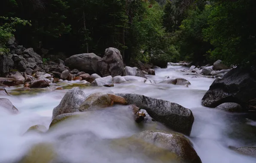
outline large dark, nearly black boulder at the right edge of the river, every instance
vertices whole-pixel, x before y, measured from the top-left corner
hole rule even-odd
[[[250,101],[256,99],[255,85],[256,69],[238,66],[212,83],[202,99],[202,105],[214,108],[222,103],[238,103],[243,109],[250,109]]]

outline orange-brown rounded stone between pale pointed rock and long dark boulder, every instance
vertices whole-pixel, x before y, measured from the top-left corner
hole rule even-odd
[[[119,97],[114,94],[97,92],[86,98],[86,100],[80,105],[79,111],[83,112],[91,109],[105,108],[112,106],[113,104],[126,105],[127,102],[123,97]]]

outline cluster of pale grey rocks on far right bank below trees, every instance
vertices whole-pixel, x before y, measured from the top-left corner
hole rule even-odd
[[[190,66],[189,71],[187,75],[210,75],[213,78],[223,78],[230,71],[230,68],[224,65],[221,60],[217,60],[212,66],[210,64],[197,67]]]

